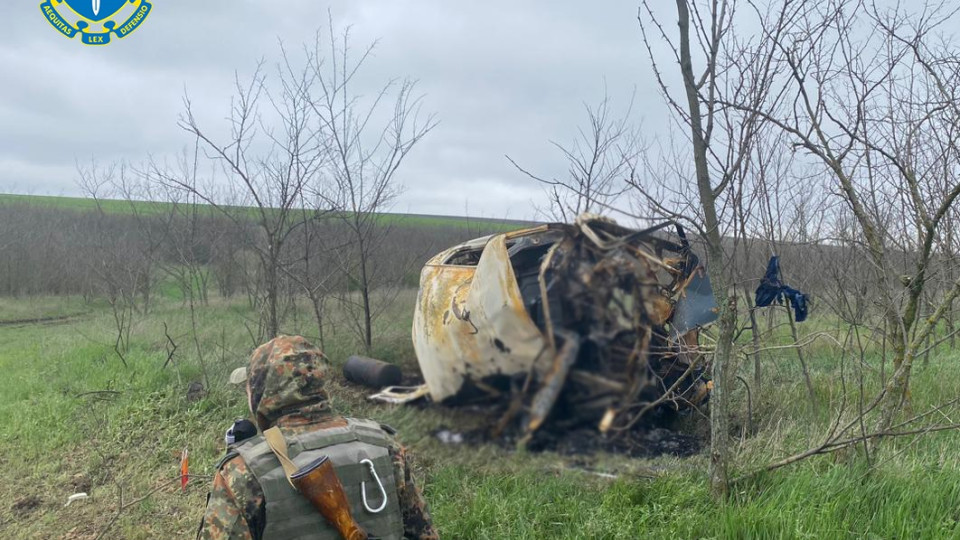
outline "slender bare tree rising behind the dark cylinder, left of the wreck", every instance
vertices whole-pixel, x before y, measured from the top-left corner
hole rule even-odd
[[[347,293],[355,288],[360,298],[344,294],[341,299],[368,350],[373,321],[385,307],[371,300],[379,270],[372,254],[389,232],[378,213],[400,193],[396,174],[407,154],[436,126],[433,115],[422,115],[422,96],[415,93],[413,81],[390,81],[367,101],[355,90],[357,74],[375,45],[354,58],[350,29],[338,34],[331,21],[326,32],[318,32],[308,55],[309,74],[318,88],[308,103],[330,148],[330,159],[323,163],[330,185],[315,194],[348,231],[349,241],[337,252]]]

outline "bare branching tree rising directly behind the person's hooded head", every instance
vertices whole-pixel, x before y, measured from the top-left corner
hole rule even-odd
[[[284,52],[276,80],[275,86],[268,84],[262,63],[248,82],[236,78],[231,135],[224,142],[214,140],[201,127],[191,101],[184,98],[180,126],[220,165],[229,197],[218,192],[213,182],[201,185],[154,169],[158,181],[196,195],[238,229],[255,224],[256,234],[248,238],[247,246],[259,262],[262,303],[258,307],[261,328],[268,336],[280,333],[284,246],[297,224],[304,189],[317,181],[327,156],[325,134],[311,114],[314,79],[306,70],[298,72]],[[266,111],[261,110],[264,102]]]

